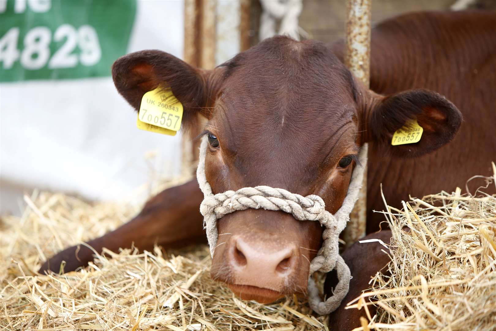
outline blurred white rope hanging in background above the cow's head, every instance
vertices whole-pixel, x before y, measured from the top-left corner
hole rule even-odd
[[[300,40],[298,17],[302,12],[302,0],[260,0],[262,14],[260,16],[260,40],[276,34],[286,34]],[[281,20],[279,32],[276,32],[276,21]]]

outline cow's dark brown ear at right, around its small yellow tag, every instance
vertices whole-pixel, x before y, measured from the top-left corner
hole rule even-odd
[[[430,90],[408,90],[386,97],[371,92],[370,96],[366,140],[381,144],[395,156],[416,157],[436,150],[453,139],[462,122],[460,111]],[[391,145],[394,132],[412,120],[423,128],[420,141]]]

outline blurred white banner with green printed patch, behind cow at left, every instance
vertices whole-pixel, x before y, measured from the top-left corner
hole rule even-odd
[[[180,135],[138,130],[110,65],[144,49],[182,58],[184,3],[117,1],[0,0],[2,213],[18,212],[13,187],[127,199],[149,179],[147,151],[179,173]]]

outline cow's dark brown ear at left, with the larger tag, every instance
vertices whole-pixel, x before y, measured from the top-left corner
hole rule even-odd
[[[159,85],[171,88],[183,104],[183,123],[195,122],[198,112],[209,116],[206,86],[210,71],[201,70],[168,53],[147,50],[124,55],[112,66],[112,77],[119,93],[139,110],[143,95]]]

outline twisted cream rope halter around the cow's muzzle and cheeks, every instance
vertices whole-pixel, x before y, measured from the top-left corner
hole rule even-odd
[[[248,187],[238,191],[226,191],[214,195],[212,188],[205,176],[205,155],[207,150],[207,137],[203,137],[200,145],[200,157],[196,178],[203,192],[204,199],[200,205],[203,215],[204,227],[207,233],[210,254],[214,255],[217,245],[217,220],[224,215],[236,210],[248,208],[281,210],[290,213],[298,220],[318,221],[325,227],[322,237],[322,247],[317,256],[310,263],[308,295],[311,309],[320,315],[325,315],[336,310],[341,301],[348,293],[350,286],[350,269],[343,258],[339,256],[339,234],[344,230],[350,220],[353,205],[358,199],[358,193],[362,186],[364,167],[357,165],[348,187],[348,192],[339,210],[333,215],[325,210],[325,203],[319,196],[310,195],[303,197],[284,189],[275,189],[268,186]],[[367,152],[363,149],[359,153],[359,161],[363,166],[367,164]],[[315,282],[310,277],[315,271],[329,272],[336,268],[338,274],[338,285],[334,289],[334,295],[326,301],[320,299]]]

